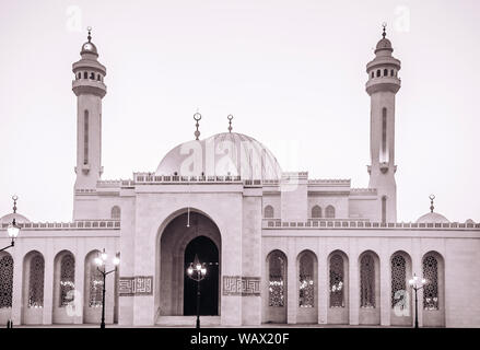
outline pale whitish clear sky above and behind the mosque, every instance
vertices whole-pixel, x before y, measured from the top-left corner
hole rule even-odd
[[[154,172],[194,139],[234,131],[283,171],[367,187],[365,65],[387,25],[401,60],[398,221],[435,211],[480,221],[480,2],[0,2],[0,217],[70,221],[77,148],[72,62],[86,26],[106,66],[103,179]]]

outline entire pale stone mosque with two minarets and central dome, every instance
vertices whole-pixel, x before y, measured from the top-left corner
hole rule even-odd
[[[13,219],[0,252],[0,325],[195,325],[199,261],[203,326],[261,324],[480,327],[480,223],[431,210],[397,221],[395,98],[400,60],[383,37],[366,65],[367,188],[282,172],[254,138],[233,131],[173,148],[156,171],[102,178],[106,68],[89,31],[72,66],[77,180],[71,222]],[[108,117],[108,116],[107,116]],[[15,198],[16,199],[16,198]],[[105,250],[104,250],[105,249]],[[106,277],[97,269],[105,252]],[[119,257],[115,269],[112,257]],[[117,261],[118,262],[118,261]],[[190,271],[191,272],[191,271]],[[417,283],[415,282],[415,283]],[[420,283],[420,282],[419,282]],[[419,285],[420,287],[420,285]]]

